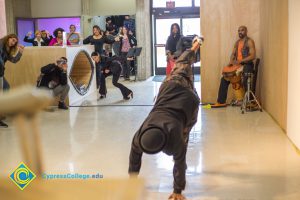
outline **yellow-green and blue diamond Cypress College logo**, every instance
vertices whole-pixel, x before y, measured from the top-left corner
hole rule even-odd
[[[36,178],[36,175],[23,163],[9,175],[9,178],[20,188],[24,190]]]

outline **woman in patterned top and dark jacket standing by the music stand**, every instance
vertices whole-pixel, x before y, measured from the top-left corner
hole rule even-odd
[[[130,80],[130,65],[131,60],[127,58],[127,54],[130,48],[133,48],[137,45],[137,41],[133,34],[129,34],[125,26],[123,26],[121,35],[120,35],[120,56],[123,60],[123,76],[125,80]]]

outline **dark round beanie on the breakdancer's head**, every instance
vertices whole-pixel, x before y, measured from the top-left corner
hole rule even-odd
[[[140,137],[140,146],[145,153],[156,154],[166,144],[166,134],[159,128],[149,128]]]

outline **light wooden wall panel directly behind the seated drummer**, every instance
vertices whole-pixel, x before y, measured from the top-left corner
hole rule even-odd
[[[201,50],[202,102],[216,102],[221,70],[229,62],[240,25],[248,27],[260,56],[259,4],[260,0],[201,1],[201,32],[205,38]]]

